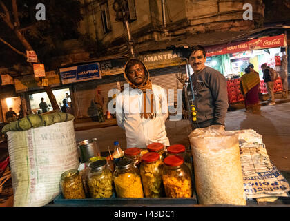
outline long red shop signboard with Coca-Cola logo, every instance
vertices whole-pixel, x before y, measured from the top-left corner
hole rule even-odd
[[[263,48],[277,48],[286,46],[284,35],[276,35],[271,37],[260,37],[250,41],[235,42],[231,44],[222,44],[218,46],[206,47],[206,56],[224,55],[246,50],[259,50]]]

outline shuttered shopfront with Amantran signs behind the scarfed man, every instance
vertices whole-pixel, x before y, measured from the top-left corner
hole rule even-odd
[[[171,98],[169,105],[174,105],[177,99],[177,89],[182,89],[182,84],[177,80],[176,74],[186,79],[186,68],[182,62],[182,55],[173,51],[159,52],[138,57],[148,68],[153,84],[166,89],[174,90],[174,101]],[[61,83],[70,84],[75,102],[75,117],[88,118],[94,113],[94,98],[97,87],[101,89],[104,97],[104,113],[108,110],[112,89],[120,90],[126,83],[124,79],[124,65],[128,59],[110,59],[95,61],[90,64],[59,68]],[[87,75],[80,79],[79,68],[82,67]],[[93,67],[93,68],[92,68]]]

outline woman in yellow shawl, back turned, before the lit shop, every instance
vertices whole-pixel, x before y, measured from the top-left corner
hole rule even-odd
[[[260,87],[260,78],[258,73],[251,71],[250,68],[244,69],[245,74],[242,75],[240,86],[242,94],[244,95],[244,106],[246,112],[260,111],[260,102],[259,102],[259,87]]]

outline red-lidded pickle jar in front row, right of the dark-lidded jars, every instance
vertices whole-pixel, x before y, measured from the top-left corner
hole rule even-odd
[[[162,168],[163,163],[158,153],[150,152],[142,156],[140,174],[146,198],[160,198],[164,196]]]

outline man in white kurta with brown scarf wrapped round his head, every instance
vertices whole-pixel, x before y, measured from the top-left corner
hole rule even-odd
[[[116,118],[117,124],[126,131],[127,148],[146,148],[154,142],[169,146],[165,129],[166,91],[151,84],[148,70],[138,59],[126,63],[124,77],[128,84],[117,95]]]

